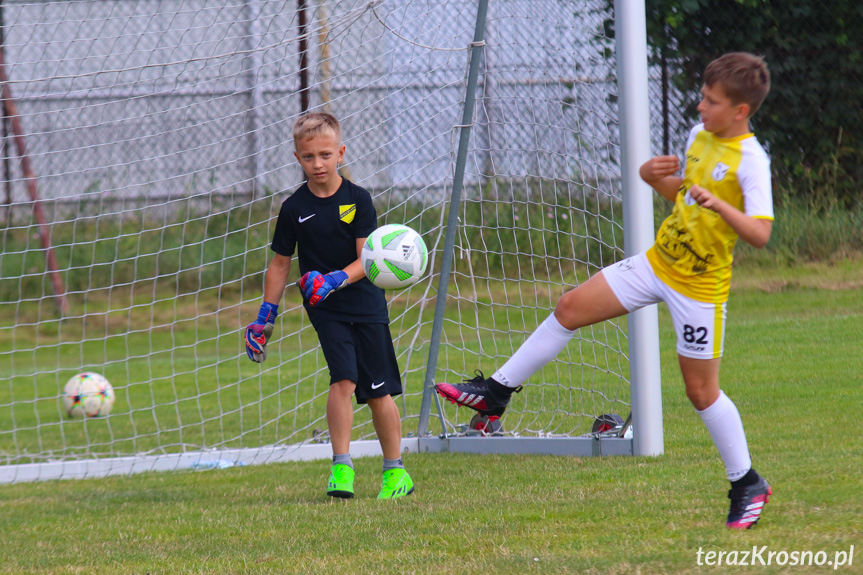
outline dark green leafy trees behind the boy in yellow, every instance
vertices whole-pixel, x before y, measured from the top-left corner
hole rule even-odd
[[[863,3],[646,0],[645,7],[652,63],[669,63],[687,96],[684,114],[697,118],[712,59],[763,55],[772,89],[752,123],[777,187],[863,204]]]

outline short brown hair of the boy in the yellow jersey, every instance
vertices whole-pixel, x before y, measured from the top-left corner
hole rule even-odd
[[[761,56],[729,52],[712,61],[704,70],[707,86],[721,84],[734,104],[748,104],[749,115],[761,107],[770,91],[770,72]]]

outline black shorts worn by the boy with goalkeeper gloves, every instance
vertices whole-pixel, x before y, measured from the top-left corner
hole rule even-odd
[[[401,395],[401,372],[389,325],[321,321],[315,330],[330,368],[331,385],[345,379],[356,383],[357,403]]]

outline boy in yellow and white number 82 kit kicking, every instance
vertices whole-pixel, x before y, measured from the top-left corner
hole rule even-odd
[[[743,424],[719,389],[726,300],[737,239],[761,248],[770,239],[770,162],[750,132],[749,118],[770,90],[764,60],[736,52],[711,62],[698,105],[702,123],[686,145],[683,176],[676,156],[641,166],[642,179],[674,202],[673,213],[647,252],[603,269],[564,294],[550,315],[492,377],[439,383],[439,394],[486,415],[500,416],[513,392],[552,361],[575,330],[664,301],[677,332],[686,394],[725,464],[731,490],[726,525],[748,529],[772,490],[752,468]]]

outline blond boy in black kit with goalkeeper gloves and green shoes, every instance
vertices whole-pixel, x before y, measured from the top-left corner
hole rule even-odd
[[[293,136],[294,155],[308,180],[282,203],[264,303],[257,321],[246,328],[246,351],[255,362],[266,359],[296,248],[303,305],[330,370],[327,425],[333,465],[327,495],[354,496],[350,439],[356,394],[357,403],[371,409],[383,451],[378,499],[403,497],[414,487],[401,459],[401,418],[393,401],[402,393],[401,376],[384,292],[365,277],[359,261],[366,237],[377,227],[377,214],[371,195],[338,173],[345,146],[335,117],[304,115],[294,124]]]

